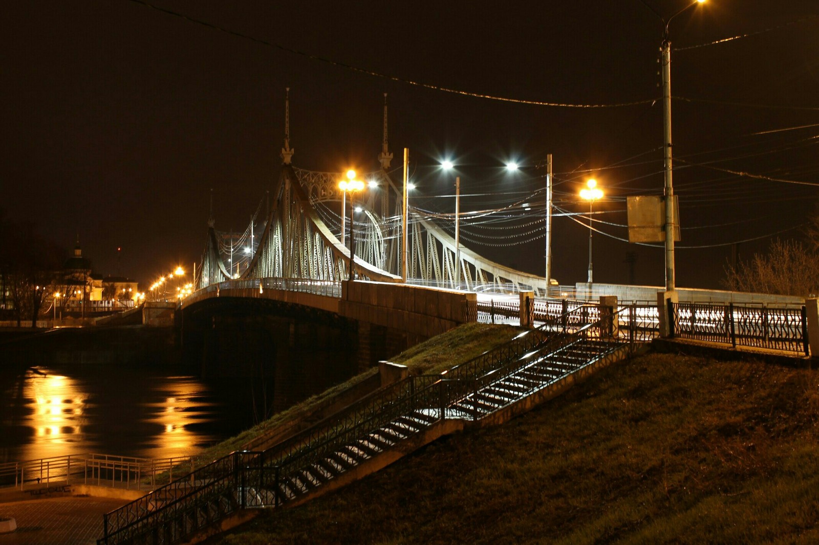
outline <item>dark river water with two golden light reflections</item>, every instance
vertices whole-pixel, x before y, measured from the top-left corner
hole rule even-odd
[[[272,386],[206,383],[179,367],[0,372],[0,462],[66,454],[188,456],[252,426]]]

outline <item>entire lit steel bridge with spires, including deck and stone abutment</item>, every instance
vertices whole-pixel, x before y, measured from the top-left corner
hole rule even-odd
[[[369,191],[355,202],[360,220],[345,218],[342,174],[292,164],[288,132],[265,214],[259,205],[241,234],[220,232],[211,214],[195,291],[180,305],[188,329],[197,327],[194,309],[211,299],[278,301],[292,312],[307,307],[355,322],[365,367],[476,321],[479,292],[514,294],[516,305],[518,292],[547,295],[545,277],[482,257],[456,242],[434,214],[407,205],[406,173],[399,184],[390,170],[386,109],[382,168],[363,176]],[[206,327],[208,316],[199,314],[199,327]],[[388,341],[381,348],[391,352],[368,345],[382,337]]]

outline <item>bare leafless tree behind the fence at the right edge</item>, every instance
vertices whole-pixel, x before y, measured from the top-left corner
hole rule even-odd
[[[728,289],[735,291],[816,295],[819,293],[819,250],[799,241],[777,239],[771,242],[767,254],[753,254],[748,262],[726,266],[725,283]]]

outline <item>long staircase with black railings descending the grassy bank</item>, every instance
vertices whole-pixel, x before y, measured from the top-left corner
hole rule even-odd
[[[464,426],[525,412],[578,372],[630,353],[634,331],[618,329],[612,309],[594,310],[575,309],[441,375],[410,376],[264,452],[211,462],[108,513],[97,544],[183,543],[250,508],[337,489]]]

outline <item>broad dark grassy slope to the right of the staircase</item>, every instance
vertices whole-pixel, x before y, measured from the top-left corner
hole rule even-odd
[[[649,354],[208,543],[817,543],[817,383]]]

